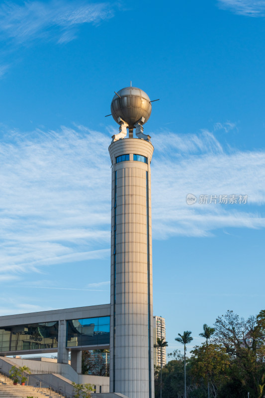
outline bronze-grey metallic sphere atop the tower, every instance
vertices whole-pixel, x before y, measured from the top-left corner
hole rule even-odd
[[[112,117],[117,123],[119,123],[118,117],[121,117],[129,128],[133,128],[141,117],[145,118],[144,123],[147,122],[151,115],[152,104],[143,90],[137,87],[125,87],[115,94],[110,109]]]

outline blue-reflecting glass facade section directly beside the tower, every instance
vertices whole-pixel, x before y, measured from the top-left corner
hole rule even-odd
[[[109,316],[67,321],[67,347],[109,344]]]

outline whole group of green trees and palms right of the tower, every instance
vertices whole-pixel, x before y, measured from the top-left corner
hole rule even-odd
[[[185,345],[191,332],[178,333],[176,341]],[[190,358],[175,350],[162,369],[162,395],[184,398],[184,361],[186,361],[187,398],[265,398],[265,310],[247,319],[228,310],[212,326],[203,325],[201,345]],[[188,355],[189,356],[189,355]],[[159,397],[160,370],[155,370],[155,394]]]

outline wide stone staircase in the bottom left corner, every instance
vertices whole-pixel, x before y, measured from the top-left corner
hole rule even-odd
[[[63,395],[46,388],[36,388],[32,386],[13,385],[12,380],[0,374],[0,398],[65,398]]]

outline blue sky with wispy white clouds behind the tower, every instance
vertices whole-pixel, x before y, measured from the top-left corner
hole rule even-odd
[[[0,3],[0,315],[109,302],[104,115],[130,80],[161,99],[145,133],[168,351],[264,309],[264,33],[264,0]]]

